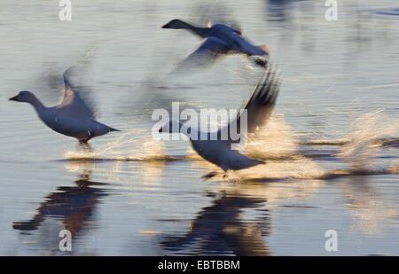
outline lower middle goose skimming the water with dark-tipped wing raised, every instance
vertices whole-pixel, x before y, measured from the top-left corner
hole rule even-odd
[[[276,104],[278,91],[279,76],[269,68],[262,75],[261,81],[258,82],[251,98],[249,98],[244,107],[247,118],[247,133],[254,133],[256,129],[262,127],[268,121]],[[236,132],[240,133],[239,137],[245,139],[240,129],[241,118],[242,114],[238,114],[237,118],[232,120],[226,127],[219,129],[217,131],[217,138],[212,138],[212,136],[215,136],[213,132],[200,132],[200,130],[193,129],[179,121],[168,121],[159,129],[159,132],[183,133],[189,137],[192,148],[203,159],[214,163],[216,166],[222,168],[224,172],[227,170],[239,170],[264,163],[262,160],[251,159],[239,153],[238,150],[233,150],[231,145],[238,143],[239,140],[233,140],[231,134],[228,134],[227,138],[222,138],[223,132],[231,133],[232,129],[237,129]],[[215,176],[215,173],[210,173],[210,176]]]

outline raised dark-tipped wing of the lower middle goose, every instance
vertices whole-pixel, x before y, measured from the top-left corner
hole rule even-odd
[[[230,133],[230,130],[237,129],[237,132],[242,133],[241,122],[246,122],[247,133],[254,133],[256,129],[262,127],[269,120],[276,105],[279,86],[279,74],[277,74],[275,69],[268,68],[243,108],[246,110],[246,121],[241,121],[243,118],[239,114],[227,126],[228,132]]]

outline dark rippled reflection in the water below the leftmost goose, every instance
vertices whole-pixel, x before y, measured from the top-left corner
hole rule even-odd
[[[96,187],[104,184],[91,182],[90,175],[90,170],[83,170],[79,179],[74,181],[75,186],[60,186],[57,192],[51,192],[31,220],[14,222],[13,229],[34,231],[46,218],[55,218],[62,221],[72,236],[82,231],[93,218],[98,202],[106,196],[105,191]]]

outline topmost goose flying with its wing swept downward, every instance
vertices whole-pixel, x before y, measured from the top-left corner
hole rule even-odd
[[[240,30],[228,27],[223,24],[215,24],[211,27],[196,27],[183,20],[171,20],[162,28],[187,29],[192,34],[200,36],[204,39],[200,47],[192,52],[184,63],[192,63],[197,61],[202,64],[214,63],[220,54],[243,53],[246,56],[257,56],[254,63],[261,67],[266,67],[267,60],[270,56],[270,49],[267,45],[254,45],[242,35]],[[259,58],[262,57],[262,58]]]

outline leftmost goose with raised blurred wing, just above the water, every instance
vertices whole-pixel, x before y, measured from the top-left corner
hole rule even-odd
[[[111,131],[120,131],[96,121],[93,111],[68,81],[68,74],[73,68],[68,68],[63,74],[65,94],[58,106],[43,106],[42,102],[27,90],[20,91],[17,96],[9,100],[27,102],[34,106],[39,118],[50,129],[66,136],[75,137],[82,144],[86,144],[92,137],[102,136]]]

